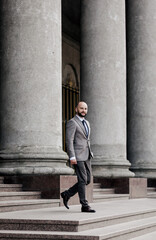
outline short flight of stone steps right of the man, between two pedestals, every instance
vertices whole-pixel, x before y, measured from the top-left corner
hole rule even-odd
[[[93,184],[93,202],[129,199],[129,194],[116,194],[114,188],[101,188],[100,183]]]

